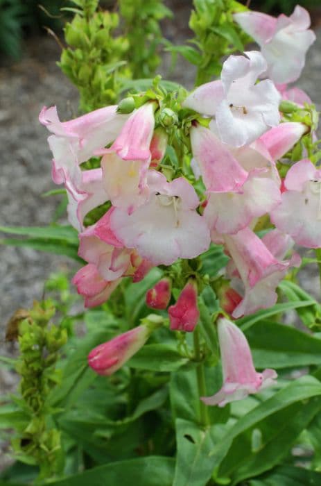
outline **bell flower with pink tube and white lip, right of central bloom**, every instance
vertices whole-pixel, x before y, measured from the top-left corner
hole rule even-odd
[[[191,144],[207,187],[204,217],[211,230],[237,233],[280,203],[277,170],[269,155],[270,160],[248,146],[231,150],[202,126],[191,128]]]

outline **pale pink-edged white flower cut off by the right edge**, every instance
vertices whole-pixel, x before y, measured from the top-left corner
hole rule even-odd
[[[281,203],[271,212],[271,221],[295,243],[321,247],[321,170],[310,160],[297,162],[288,170]]]

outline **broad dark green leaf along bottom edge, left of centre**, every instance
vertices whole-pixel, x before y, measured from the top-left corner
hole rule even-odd
[[[94,467],[51,484],[55,486],[172,486],[174,466],[175,461],[172,458],[150,455]]]

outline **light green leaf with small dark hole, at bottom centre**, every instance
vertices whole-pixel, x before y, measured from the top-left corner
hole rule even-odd
[[[173,486],[205,486],[214,461],[211,449],[218,440],[217,426],[201,428],[194,422],[177,419],[177,462]]]

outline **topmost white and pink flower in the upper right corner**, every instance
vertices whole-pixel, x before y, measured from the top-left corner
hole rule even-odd
[[[309,29],[309,12],[297,5],[290,17],[239,12],[234,19],[261,47],[272,81],[290,83],[299,78],[306,51],[315,41],[315,33]]]

